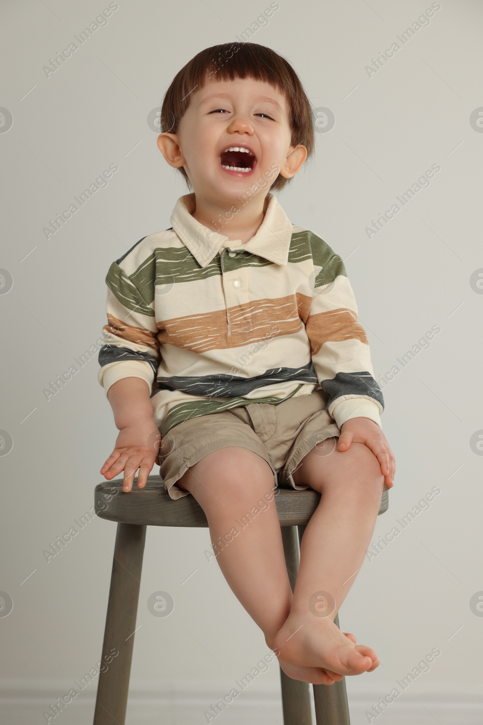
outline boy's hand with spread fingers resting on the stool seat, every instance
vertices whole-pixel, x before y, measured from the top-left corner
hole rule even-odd
[[[110,481],[124,471],[122,490],[128,492],[139,468],[138,489],[142,489],[156,461],[160,439],[153,418],[121,428],[116,446],[101,468],[104,478]]]

